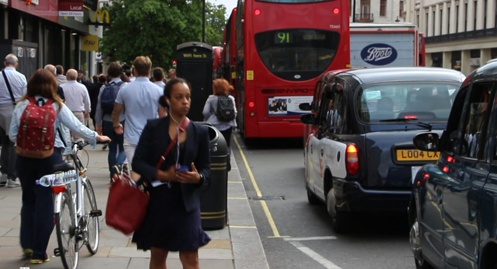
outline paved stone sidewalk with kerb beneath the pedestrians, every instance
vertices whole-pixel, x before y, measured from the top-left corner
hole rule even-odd
[[[88,176],[91,179],[100,217],[100,243],[98,252],[90,256],[85,247],[80,250],[80,269],[146,269],[149,267],[150,251],[139,251],[131,236],[105,225],[105,207],[107,204],[109,178],[107,168],[107,150],[97,146],[88,149]],[[83,153],[83,160],[86,159]],[[268,268],[264,250],[255,227],[252,211],[247,200],[240,173],[232,157],[232,170],[228,176],[228,222],[220,230],[207,231],[212,241],[199,250],[202,269],[265,269]],[[0,188],[0,269],[63,268],[59,257],[53,257],[57,247],[55,229],[52,233],[47,253],[50,262],[30,265],[28,260],[21,260],[19,245],[19,226],[21,209],[21,188]],[[169,253],[169,269],[182,268],[177,252]]]

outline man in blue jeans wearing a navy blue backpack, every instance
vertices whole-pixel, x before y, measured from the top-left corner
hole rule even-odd
[[[107,162],[109,164],[110,178],[112,180],[112,166],[117,165],[121,167],[126,159],[124,152],[124,135],[118,135],[112,124],[112,111],[116,101],[117,93],[126,85],[126,82],[121,80],[121,73],[123,69],[117,62],[113,62],[107,69],[109,83],[104,84],[98,93],[95,122],[96,132],[98,134],[105,134],[111,139],[108,148],[109,155]],[[120,123],[124,126],[124,113],[121,113],[119,118]]]

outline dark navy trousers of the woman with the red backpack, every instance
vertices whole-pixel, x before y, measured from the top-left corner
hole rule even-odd
[[[52,189],[36,185],[36,180],[52,173],[54,164],[62,162],[60,149],[46,159],[17,155],[16,170],[22,188],[20,241],[23,249],[32,249],[32,259],[45,260],[50,234],[54,228]]]

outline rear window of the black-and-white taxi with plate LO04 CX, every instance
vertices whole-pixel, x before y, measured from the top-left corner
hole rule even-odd
[[[356,111],[364,123],[398,118],[446,122],[460,84],[409,82],[364,85],[357,94]]]

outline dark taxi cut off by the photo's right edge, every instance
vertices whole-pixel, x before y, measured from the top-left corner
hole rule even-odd
[[[440,152],[414,178],[416,268],[497,268],[497,62],[463,82],[441,136],[427,132],[413,142]]]

